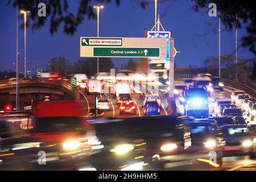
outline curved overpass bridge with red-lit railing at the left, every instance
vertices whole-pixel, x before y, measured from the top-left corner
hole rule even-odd
[[[19,101],[42,101],[45,96],[50,100],[79,100],[80,94],[77,88],[70,82],[52,78],[19,78]],[[0,81],[0,101],[15,102],[16,78]]]

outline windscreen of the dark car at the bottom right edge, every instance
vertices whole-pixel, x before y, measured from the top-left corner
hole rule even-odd
[[[248,127],[229,127],[222,129],[222,133],[225,137],[249,137],[251,135]]]

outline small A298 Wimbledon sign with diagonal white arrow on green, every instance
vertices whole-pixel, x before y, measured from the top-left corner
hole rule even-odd
[[[122,38],[81,38],[81,46],[123,46]]]

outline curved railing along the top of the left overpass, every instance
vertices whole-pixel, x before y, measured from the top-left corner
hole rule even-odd
[[[19,78],[19,85],[25,84],[49,84],[64,87],[69,90],[74,96],[74,98],[79,98],[79,91],[76,87],[71,86],[71,83],[64,80],[57,80],[55,78],[44,78],[44,77],[34,77],[34,78]],[[16,86],[16,78],[11,78],[9,80],[0,81],[0,89],[10,88]]]

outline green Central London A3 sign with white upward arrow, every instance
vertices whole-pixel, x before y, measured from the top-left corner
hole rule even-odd
[[[160,57],[160,48],[94,47],[94,57]]]

